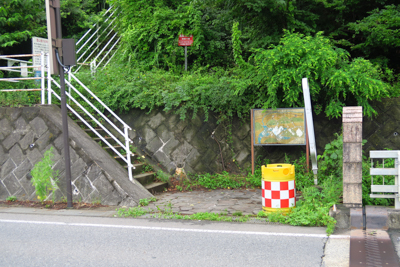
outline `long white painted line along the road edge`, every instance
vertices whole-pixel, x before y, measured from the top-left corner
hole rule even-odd
[[[112,224],[89,224],[89,223],[66,223],[66,222],[44,222],[44,221],[23,221],[23,220],[1,220],[0,223],[24,223],[24,224],[45,224],[61,226],[82,226],[82,227],[104,227],[104,228],[124,228],[137,230],[158,230],[158,231],[176,231],[176,232],[196,232],[196,233],[219,233],[219,234],[241,234],[241,235],[264,235],[264,236],[287,236],[287,237],[316,237],[327,238],[323,234],[298,234],[298,233],[270,233],[270,232],[249,232],[249,231],[226,231],[226,230],[204,230],[204,229],[185,229],[169,227],[149,227],[134,225],[112,225]],[[349,239],[349,235],[330,235],[332,239]]]

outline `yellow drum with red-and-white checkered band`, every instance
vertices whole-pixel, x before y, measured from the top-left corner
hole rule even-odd
[[[268,164],[261,166],[262,203],[265,212],[288,212],[296,206],[294,165]]]

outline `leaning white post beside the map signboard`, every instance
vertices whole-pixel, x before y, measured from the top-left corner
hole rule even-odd
[[[314,184],[318,183],[317,180],[317,146],[315,144],[315,135],[314,135],[314,121],[312,118],[311,111],[311,97],[310,97],[310,88],[308,87],[307,78],[302,79],[302,87],[303,87],[303,97],[304,97],[304,106],[306,109],[306,122],[307,122],[307,131],[308,131],[308,140],[310,144],[310,155],[311,155],[311,163],[312,169],[314,173]]]

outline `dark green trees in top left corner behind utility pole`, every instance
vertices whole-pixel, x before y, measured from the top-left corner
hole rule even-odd
[[[76,38],[99,18],[104,0],[61,0],[64,38]],[[29,54],[30,39],[47,37],[45,0],[2,0],[0,2],[0,54]]]

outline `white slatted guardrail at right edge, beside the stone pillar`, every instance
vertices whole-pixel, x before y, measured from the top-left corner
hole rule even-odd
[[[400,184],[399,184],[399,159],[400,150],[375,150],[370,151],[369,156],[371,158],[371,198],[394,198],[395,199],[395,209],[400,209]],[[374,168],[373,159],[383,159],[382,168]],[[394,159],[394,168],[385,168],[385,159]],[[373,176],[381,175],[393,175],[395,176],[394,185],[385,185],[385,177],[383,177],[383,183],[381,185],[374,184]],[[374,194],[379,193],[379,194]],[[385,194],[386,193],[386,194]],[[390,194],[389,194],[390,193]]]

